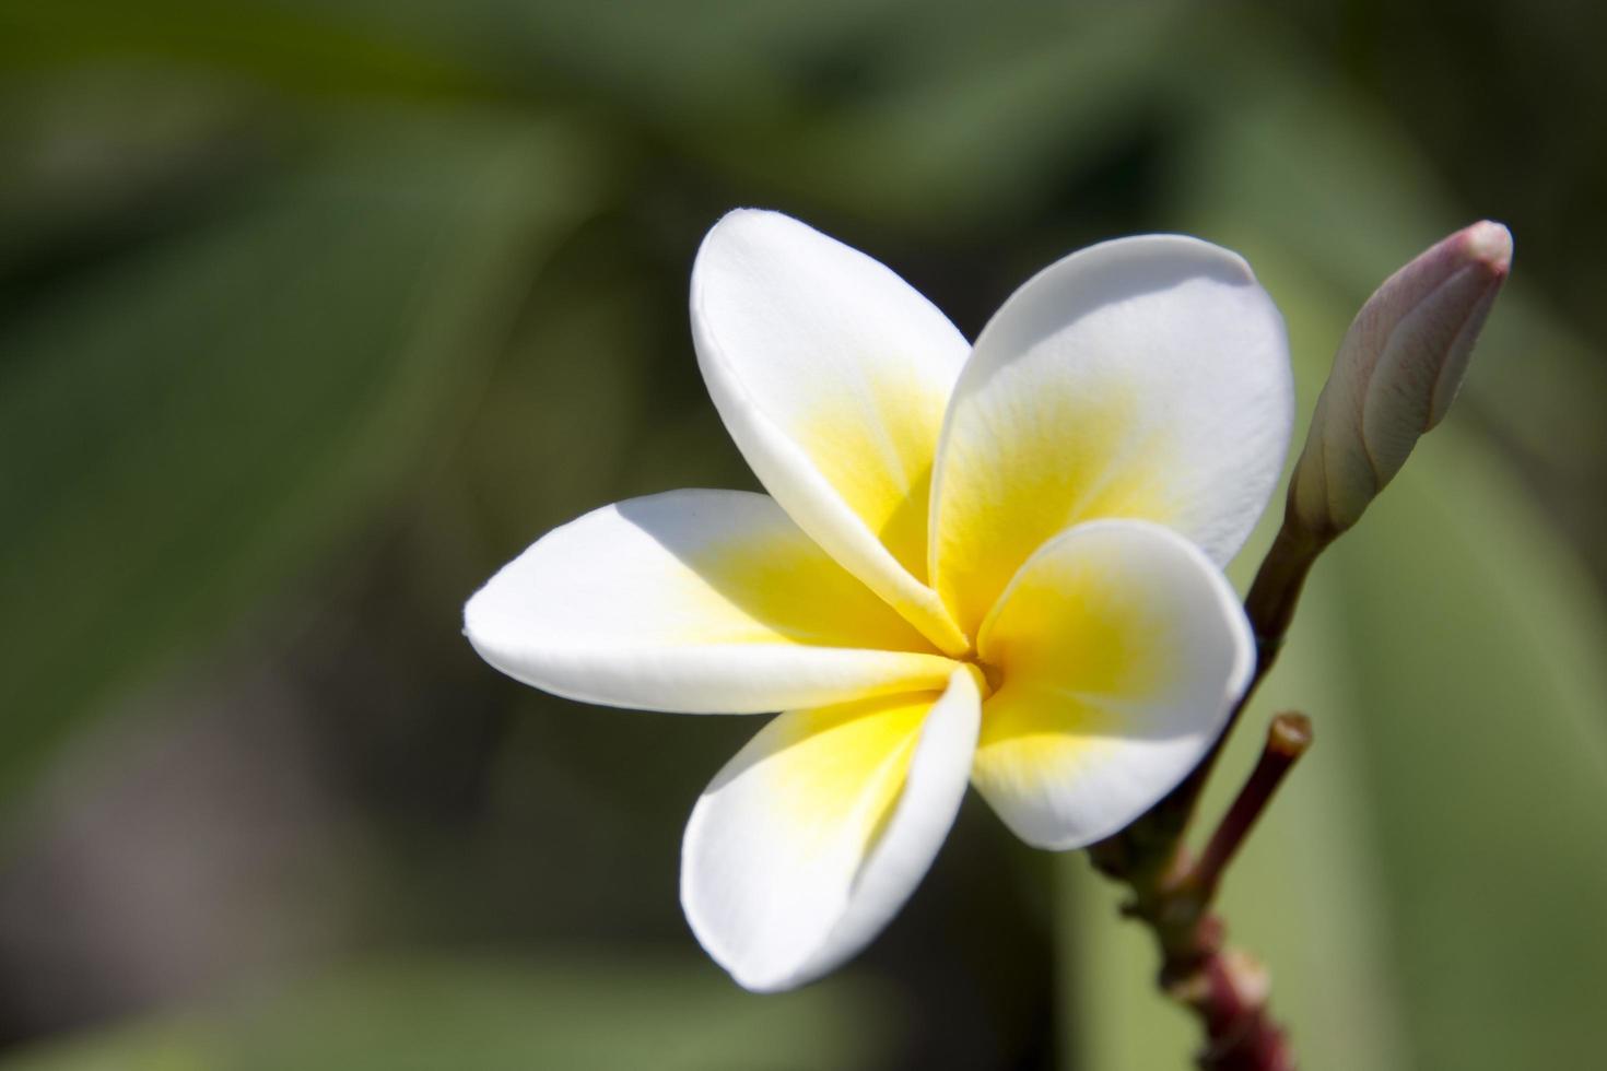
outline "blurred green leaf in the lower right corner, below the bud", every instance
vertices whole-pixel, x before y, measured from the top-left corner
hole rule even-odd
[[[1451,446],[1380,501],[1393,560],[1337,565],[1401,1008],[1417,1066],[1564,1066],[1607,1049],[1607,628],[1519,482]]]

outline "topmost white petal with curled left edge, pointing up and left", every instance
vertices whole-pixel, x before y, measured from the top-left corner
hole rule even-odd
[[[799,525],[950,654],[926,586],[932,458],[971,347],[908,283],[778,212],[720,220],[693,268],[720,417]]]

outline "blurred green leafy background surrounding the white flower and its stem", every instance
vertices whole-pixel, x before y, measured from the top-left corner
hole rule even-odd
[[[0,1068],[1186,1066],[1114,890],[975,801],[850,968],[738,991],[677,856],[759,723],[463,642],[551,525],[752,485],[685,312],[742,204],[967,336],[1078,246],[1197,233],[1278,299],[1303,409],[1390,270],[1509,223],[1453,419],[1218,785],[1313,715],[1226,912],[1308,1068],[1607,1061],[1591,14],[0,0]]]

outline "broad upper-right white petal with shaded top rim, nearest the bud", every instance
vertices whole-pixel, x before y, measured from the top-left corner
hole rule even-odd
[[[1165,523],[1226,564],[1292,408],[1282,318],[1244,260],[1167,234],[1072,254],[1004,302],[955,387],[934,584],[975,634],[1028,554],[1098,517]]]

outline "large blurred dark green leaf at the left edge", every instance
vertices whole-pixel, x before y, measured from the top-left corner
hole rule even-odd
[[[442,453],[588,202],[556,128],[336,133],[0,329],[0,793]]]

